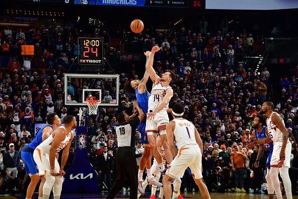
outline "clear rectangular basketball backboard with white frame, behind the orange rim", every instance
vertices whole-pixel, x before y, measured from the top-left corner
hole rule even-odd
[[[119,105],[119,75],[111,74],[64,74],[64,104],[87,107],[86,99],[95,96],[99,106]]]

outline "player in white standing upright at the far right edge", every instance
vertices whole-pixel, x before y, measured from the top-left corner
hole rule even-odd
[[[279,186],[278,171],[282,178],[286,198],[292,198],[291,181],[288,175],[290,167],[291,143],[288,140],[288,133],[281,116],[273,112],[274,105],[271,102],[264,102],[261,112],[267,117],[267,127],[270,138],[273,141],[273,152],[270,161],[270,178],[275,190],[277,199],[282,198]]]

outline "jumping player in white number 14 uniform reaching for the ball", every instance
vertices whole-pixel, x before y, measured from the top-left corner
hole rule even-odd
[[[160,48],[158,46],[154,46],[150,56],[154,56],[155,52],[158,52],[159,50]],[[173,156],[169,149],[166,125],[169,123],[167,110],[169,108],[169,102],[173,96],[173,89],[169,84],[175,79],[175,74],[172,71],[168,71],[165,72],[162,77],[159,77],[152,65],[148,65],[147,70],[154,85],[148,100],[146,133],[153,156],[156,158],[159,170],[162,172],[165,167],[162,162],[162,156],[156,148],[155,139],[159,132],[162,145],[165,149],[167,162],[171,163]]]

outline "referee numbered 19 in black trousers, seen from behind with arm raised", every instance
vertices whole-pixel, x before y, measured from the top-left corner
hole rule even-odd
[[[139,108],[136,101],[133,102],[134,108],[139,116],[131,121],[125,112],[117,115],[119,125],[116,127],[118,138],[118,151],[116,153],[117,178],[106,196],[106,199],[114,198],[125,183],[125,177],[130,180],[129,198],[137,198],[137,164],[135,159],[135,129],[139,122],[144,118],[144,113]]]

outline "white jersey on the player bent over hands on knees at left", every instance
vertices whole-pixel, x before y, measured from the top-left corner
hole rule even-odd
[[[65,132],[65,138],[63,141],[60,142],[58,148],[56,149],[56,153],[58,153],[59,151],[61,151],[68,143],[69,143],[69,140],[71,138],[71,132],[69,132],[68,135],[66,135],[66,130],[65,130],[65,127],[64,126],[60,126],[58,127],[57,129],[59,128],[63,128],[64,129],[64,132]],[[54,133],[54,132],[53,132]],[[51,148],[51,145],[52,145],[52,142],[53,142],[53,133],[45,140],[43,141],[40,145],[38,145],[38,149],[46,152],[46,153],[50,153],[50,148]]]

